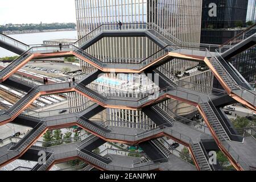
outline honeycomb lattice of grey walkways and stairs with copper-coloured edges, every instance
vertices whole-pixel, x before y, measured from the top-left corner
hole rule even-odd
[[[248,49],[251,43],[255,44],[254,39],[249,37],[251,34],[245,32],[249,39],[224,47],[226,51],[215,56],[212,51],[199,49],[201,46],[213,46],[210,44],[192,46],[182,42],[185,45],[182,48],[174,45],[171,40],[175,39],[167,37],[167,32],[157,26],[137,26],[133,29],[125,29],[125,26],[120,28],[116,24],[111,26],[113,28],[110,30],[98,29],[94,36],[86,35],[75,44],[63,47],[31,47],[0,34],[0,47],[20,55],[1,70],[0,82],[24,92],[24,96],[14,105],[5,105],[6,108],[1,109],[0,125],[11,123],[31,128],[23,138],[11,136],[1,140],[0,167],[16,159],[23,159],[35,161],[35,164],[33,167],[19,164],[20,166],[12,169],[44,171],[51,169],[56,163],[80,159],[86,165],[82,167],[84,171],[92,169],[89,165],[112,171],[219,171],[230,168],[237,171],[255,170],[255,130],[240,129],[241,133],[238,133],[222,109],[239,102],[250,109],[250,117],[256,113],[255,90],[247,82],[240,80],[242,76],[233,74],[236,69],[229,67],[225,61]],[[250,30],[254,31],[254,27],[250,27]],[[138,64],[136,57],[128,57],[130,63],[122,57],[117,57],[117,62],[113,62],[115,57],[110,57],[111,59],[108,58],[102,63],[93,56],[96,53],[92,52],[93,55],[90,55],[84,51],[102,37],[113,35],[117,40],[123,39],[123,36],[135,36],[138,42],[141,36],[144,39],[147,37],[158,43],[163,52],[155,53],[150,59]],[[40,78],[36,85],[34,77],[15,77],[29,61],[42,57],[66,56],[79,57],[94,67],[93,72],[74,76],[76,81],[67,79],[70,75],[65,78],[51,78],[48,83]],[[174,61],[174,58],[181,62]],[[193,64],[189,65],[192,61],[195,62],[193,67]],[[162,66],[168,62],[176,63],[177,70],[173,71],[168,65],[165,68]],[[189,68],[183,71],[181,63]],[[175,72],[175,76],[168,69]],[[111,73],[112,70],[119,74]],[[223,86],[222,90],[205,86],[204,82],[212,84],[208,80],[212,76],[209,71],[214,73]],[[104,76],[99,78],[101,74]],[[152,74],[157,77],[151,77]],[[82,107],[80,110],[74,107],[64,108],[61,105],[58,106],[59,109],[46,112],[28,109],[39,97],[75,92],[86,97],[79,101],[77,99],[80,96],[71,95],[73,104],[81,102],[78,103]],[[183,114],[175,114],[187,110],[171,107],[174,106],[174,100],[189,104],[192,109],[196,108],[199,111],[196,117],[201,116],[204,121],[192,121],[182,117]],[[141,122],[147,120],[148,122]],[[56,129],[66,130],[74,126],[77,130],[86,130],[85,135],[74,138],[65,135],[64,139],[59,137],[61,131]],[[59,133],[53,133],[56,140],[49,136],[52,130]],[[47,140],[42,143],[39,138],[44,134]],[[111,143],[111,148],[106,148],[108,142]],[[187,152],[184,152],[185,149]],[[222,152],[219,154],[224,154],[229,160],[227,165],[221,166],[218,158],[210,163],[210,151]],[[42,159],[45,159],[44,162]]]

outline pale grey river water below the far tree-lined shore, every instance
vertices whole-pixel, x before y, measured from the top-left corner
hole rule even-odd
[[[11,34],[11,38],[25,44],[42,44],[43,40],[77,39],[77,31],[40,32],[32,34]],[[0,57],[15,56],[16,54],[0,47]]]

